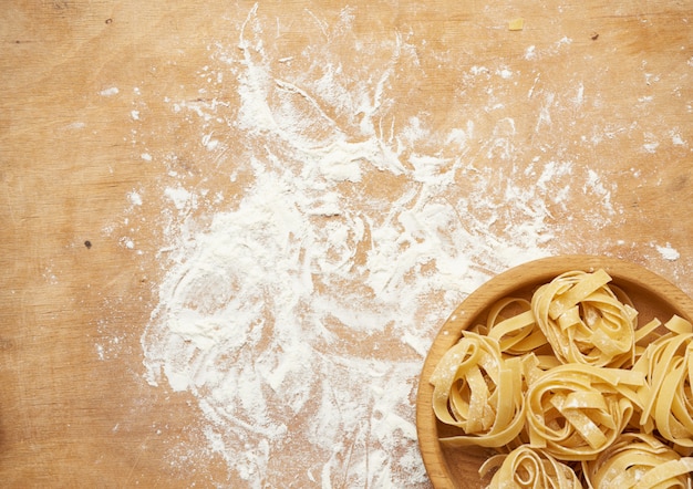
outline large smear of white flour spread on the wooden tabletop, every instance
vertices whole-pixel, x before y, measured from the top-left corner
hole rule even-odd
[[[391,85],[417,70],[406,39],[365,46],[349,9],[332,25],[309,13],[323,35],[308,67],[268,48],[256,7],[200,66],[200,92],[234,100],[168,101],[199,128],[198,166],[240,190],[162,179],[176,218],[142,336],[146,378],[195,396],[230,481],[427,487],[414,403],[442,322],[494,273],[554,252],[552,212],[573,193],[591,196],[596,227],[618,209],[609,183],[570,160],[518,165],[513,119],[480,135],[476,114],[443,133],[423,107],[395,119]],[[503,66],[478,73],[513,83]]]

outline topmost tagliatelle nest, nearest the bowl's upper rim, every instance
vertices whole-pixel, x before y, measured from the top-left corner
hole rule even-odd
[[[609,288],[611,277],[570,271],[541,285],[531,310],[562,363],[630,366],[634,361],[637,311]]]

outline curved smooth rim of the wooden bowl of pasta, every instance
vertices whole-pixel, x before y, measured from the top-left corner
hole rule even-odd
[[[603,269],[614,282],[628,282],[653,291],[682,318],[693,322],[693,299],[669,280],[638,263],[621,258],[594,254],[562,254],[540,258],[498,273],[464,299],[443,323],[426,354],[416,393],[416,434],[424,466],[433,487],[457,487],[437,437],[437,422],[432,407],[433,386],[428,379],[439,358],[493,302],[514,291],[548,282],[562,272]]]

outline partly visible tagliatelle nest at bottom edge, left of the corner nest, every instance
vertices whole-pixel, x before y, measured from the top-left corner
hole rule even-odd
[[[576,472],[546,451],[521,445],[486,460],[479,475],[494,471],[486,489],[582,489]]]

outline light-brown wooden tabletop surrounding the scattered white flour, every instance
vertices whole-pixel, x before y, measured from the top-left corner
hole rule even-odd
[[[370,86],[374,93],[387,67],[382,125],[404,134],[416,119],[428,132],[420,152],[468,160],[474,171],[451,187],[451,201],[474,178],[496,181],[488,197],[497,236],[514,236],[514,219],[537,206],[547,253],[624,258],[693,293],[689,2],[350,6],[3,3],[2,486],[263,483],[235,479],[218,454],[195,450],[205,446],[200,430],[190,428],[199,418],[195,399],[148,385],[141,346],[165,273],[158,251],[168,245],[162,216],[170,202],[163,183],[194,188],[204,181],[210,195],[240,193],[248,184],[242,175],[229,179],[234,159],[208,152],[200,141],[210,127],[199,117],[176,115],[174,102],[203,108],[215,100],[230,107],[239,103],[238,50],[249,17],[265,30],[249,29],[247,35],[262,41],[267,62],[294,85],[332,60],[341,64],[346,91]],[[521,31],[508,29],[516,18],[525,19]],[[218,67],[221,53],[236,60],[231,76],[207,82],[206,66]],[[356,138],[350,128],[363,112],[358,104],[352,108],[323,112]],[[229,127],[228,155],[247,149],[242,125],[219,127]],[[219,127],[211,126],[217,137]],[[462,154],[446,138],[455,128],[467,136]],[[550,162],[569,163],[571,171],[547,186],[540,165]],[[361,191],[396,194],[401,179],[374,175]],[[508,197],[504,189],[513,188],[532,189],[536,198]],[[133,205],[133,190],[147,197],[146,205]],[[473,207],[459,209],[463,219]],[[195,212],[204,219],[209,209],[200,204]],[[475,209],[473,217],[487,217]],[[504,263],[490,253],[479,267],[490,277]],[[432,309],[426,315],[442,324],[449,312]],[[426,334],[432,341],[435,327]],[[389,354],[395,353],[381,351]],[[276,449],[290,461],[301,441]],[[286,478],[277,471],[265,483],[320,485],[291,470]]]

